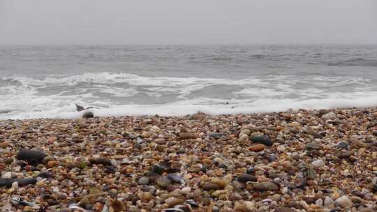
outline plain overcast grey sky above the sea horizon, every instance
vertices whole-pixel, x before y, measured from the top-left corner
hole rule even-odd
[[[0,0],[0,44],[377,43],[377,0]]]

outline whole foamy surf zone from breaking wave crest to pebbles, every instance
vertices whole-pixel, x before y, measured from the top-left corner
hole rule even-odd
[[[216,79],[86,73],[44,79],[3,77],[1,80],[6,86],[0,86],[0,110],[12,112],[0,114],[0,119],[82,116],[82,112],[75,112],[73,103],[101,107],[93,110],[96,116],[184,116],[198,111],[240,114],[377,105],[376,84],[357,77],[299,79],[276,75]],[[338,86],[341,89],[337,89]],[[345,90],[347,86],[352,87]],[[149,99],[154,102],[145,103]]]

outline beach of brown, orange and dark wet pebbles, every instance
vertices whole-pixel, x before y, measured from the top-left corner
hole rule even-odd
[[[1,211],[377,211],[377,107],[86,117],[0,121]]]

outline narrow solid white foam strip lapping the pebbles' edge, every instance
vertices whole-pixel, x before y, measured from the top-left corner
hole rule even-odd
[[[207,114],[251,114],[256,112],[279,112],[288,109],[320,109],[334,107],[371,107],[377,105],[374,96],[358,99],[310,99],[310,100],[291,100],[291,99],[261,99],[253,103],[242,105],[189,105],[187,103],[174,103],[169,105],[117,105],[109,108],[91,109],[95,116],[142,116],[155,115],[161,116],[186,116],[195,112],[205,112]],[[45,111],[29,112],[10,112],[1,114],[0,119],[75,119],[82,116],[83,112],[75,112],[74,105],[47,109]]]

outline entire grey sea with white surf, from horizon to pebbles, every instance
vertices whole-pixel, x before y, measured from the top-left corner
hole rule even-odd
[[[0,119],[377,106],[377,45],[0,46]]]

